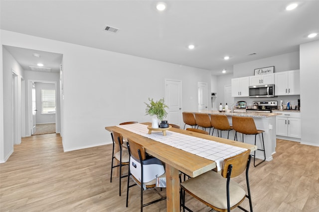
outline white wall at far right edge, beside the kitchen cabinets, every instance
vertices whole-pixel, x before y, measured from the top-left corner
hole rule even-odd
[[[302,143],[319,146],[319,41],[300,45]]]

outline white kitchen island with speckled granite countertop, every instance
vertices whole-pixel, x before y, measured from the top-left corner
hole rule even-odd
[[[216,115],[226,115],[229,121],[229,124],[232,125],[233,116],[241,117],[252,117],[255,121],[256,128],[258,130],[265,131],[263,133],[264,142],[265,142],[265,153],[266,161],[271,161],[273,159],[273,154],[276,152],[276,116],[281,115],[280,113],[258,113],[258,112],[219,112],[215,110],[204,110],[200,112],[191,112],[191,113],[205,113],[205,114],[216,114]],[[214,136],[217,136],[216,131],[214,131]],[[226,136],[226,137],[225,137]],[[235,137],[235,131],[232,130],[229,132],[229,139],[233,140]],[[262,136],[261,134],[257,135],[256,145],[258,148],[262,148]],[[227,138],[226,133],[224,132],[223,138]],[[242,135],[237,134],[238,141],[242,141]],[[255,136],[254,135],[244,135],[244,142],[254,144]],[[264,159],[264,153],[262,151],[256,151],[256,158]]]

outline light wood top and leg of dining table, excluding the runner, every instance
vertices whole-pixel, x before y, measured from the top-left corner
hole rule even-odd
[[[142,123],[147,126],[150,126],[151,123]],[[147,127],[146,126],[146,127]],[[148,154],[157,157],[162,162],[165,163],[165,172],[166,172],[166,207],[167,212],[179,212],[179,171],[185,173],[190,177],[196,177],[200,174],[203,174],[209,170],[212,170],[216,167],[216,162],[213,160],[206,159],[204,157],[192,154],[190,152],[175,148],[173,146],[149,139],[142,135],[135,134],[131,131],[122,129],[117,126],[105,127],[109,132],[115,131],[124,138],[130,138],[145,147],[145,150]],[[204,135],[196,132],[181,130],[177,128],[171,128],[169,131],[189,135],[197,138],[202,138],[205,140],[216,141],[220,143],[225,143],[233,146],[238,146],[242,148],[250,149],[255,151],[257,146],[232,141],[228,139],[213,137],[210,135]]]

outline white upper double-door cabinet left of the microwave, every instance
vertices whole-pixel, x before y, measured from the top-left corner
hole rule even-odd
[[[231,96],[248,97],[249,96],[249,76],[231,79]]]

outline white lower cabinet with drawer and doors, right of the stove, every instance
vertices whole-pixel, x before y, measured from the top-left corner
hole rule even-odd
[[[301,139],[301,119],[298,112],[279,112],[276,116],[276,135]]]

